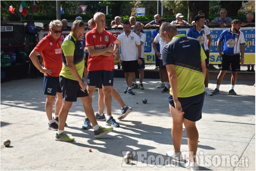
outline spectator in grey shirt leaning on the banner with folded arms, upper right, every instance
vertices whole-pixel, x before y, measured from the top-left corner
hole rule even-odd
[[[231,25],[231,22],[232,19],[227,17],[227,10],[222,8],[220,11],[220,16],[212,20],[209,25],[220,25],[221,28],[227,28],[227,26]]]

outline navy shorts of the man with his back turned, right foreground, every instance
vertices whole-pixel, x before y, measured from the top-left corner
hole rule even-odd
[[[191,97],[178,97],[181,103],[182,111],[184,111],[184,118],[196,122],[202,118],[202,108],[204,105],[204,93]],[[169,95],[169,104],[175,107],[173,96]]]

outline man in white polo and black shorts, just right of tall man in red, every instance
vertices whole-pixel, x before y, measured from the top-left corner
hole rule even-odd
[[[140,59],[142,48],[139,36],[136,33],[131,32],[131,23],[125,21],[123,25],[124,32],[117,37],[117,39],[121,41],[122,57],[120,58],[119,50],[117,51],[117,57],[119,63],[122,63],[123,71],[125,72],[125,80],[128,86],[125,94],[135,95],[131,90],[131,84],[133,73],[137,71],[137,64],[142,64],[142,60]]]

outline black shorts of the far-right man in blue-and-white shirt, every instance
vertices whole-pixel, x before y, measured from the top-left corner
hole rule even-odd
[[[231,64],[232,71],[240,71],[240,54],[229,55],[223,54],[221,62],[221,70],[229,70]]]

